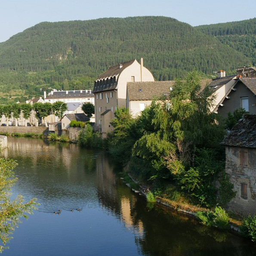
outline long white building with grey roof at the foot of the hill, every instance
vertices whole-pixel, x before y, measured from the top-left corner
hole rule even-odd
[[[49,103],[57,101],[65,103],[78,102],[81,104],[91,102],[94,105],[94,95],[91,90],[57,91],[53,89],[48,95],[44,92],[44,101]]]

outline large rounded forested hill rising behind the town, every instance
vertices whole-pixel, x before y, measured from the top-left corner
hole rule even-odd
[[[0,97],[24,100],[49,87],[86,89],[111,65],[141,57],[156,80],[250,65],[242,53],[176,19],[43,22],[0,43]]]

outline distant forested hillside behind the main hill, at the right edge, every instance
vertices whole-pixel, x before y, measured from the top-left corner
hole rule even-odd
[[[256,65],[256,18],[195,27],[204,34],[216,37],[221,43],[242,52]]]

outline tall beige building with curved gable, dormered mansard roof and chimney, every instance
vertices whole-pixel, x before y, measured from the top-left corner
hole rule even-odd
[[[117,107],[126,107],[127,82],[154,81],[151,72],[135,60],[113,66],[94,83],[95,129],[105,136],[112,130],[111,119]]]

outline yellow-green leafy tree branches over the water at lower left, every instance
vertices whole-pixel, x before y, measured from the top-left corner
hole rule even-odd
[[[6,243],[12,238],[15,227],[21,222],[20,218],[28,218],[28,214],[32,213],[37,203],[36,199],[24,203],[24,198],[19,195],[15,200],[10,200],[10,190],[16,182],[13,168],[17,165],[14,160],[8,158],[0,158],[0,253],[6,247]]]

